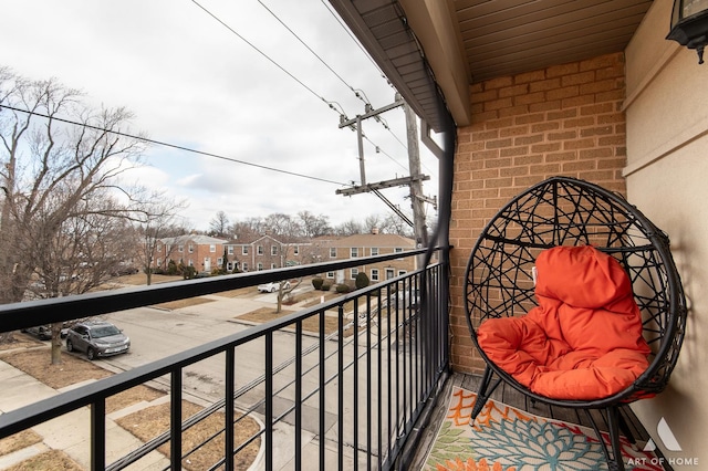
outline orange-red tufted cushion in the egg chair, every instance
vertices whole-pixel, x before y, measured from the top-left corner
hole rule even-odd
[[[612,396],[646,370],[639,308],[614,258],[590,245],[556,247],[539,254],[537,273],[537,307],[479,326],[490,360],[554,399]]]

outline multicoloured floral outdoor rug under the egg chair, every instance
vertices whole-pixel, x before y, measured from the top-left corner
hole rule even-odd
[[[424,469],[434,471],[606,470],[593,429],[530,415],[489,399],[470,427],[477,395],[455,388]],[[608,441],[608,437],[605,437]],[[641,446],[638,447],[641,448]],[[626,470],[663,470],[650,451],[622,437]]]

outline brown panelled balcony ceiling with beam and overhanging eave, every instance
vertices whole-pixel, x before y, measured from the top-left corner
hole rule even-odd
[[[406,102],[434,129],[444,96],[470,124],[469,85],[622,52],[650,0],[330,0]],[[666,32],[669,19],[666,19]]]

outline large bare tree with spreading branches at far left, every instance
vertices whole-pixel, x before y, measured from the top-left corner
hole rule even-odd
[[[117,185],[145,150],[139,136],[126,137],[132,114],[81,100],[54,80],[0,72],[0,303],[22,301],[33,279],[45,296],[100,282],[87,254],[103,251],[111,261],[119,249],[101,248],[98,234],[117,231],[107,221],[131,220],[140,205]]]

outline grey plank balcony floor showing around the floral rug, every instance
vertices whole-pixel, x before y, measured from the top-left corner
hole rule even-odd
[[[427,458],[430,447],[433,447],[440,423],[445,419],[452,388],[459,387],[472,393],[477,393],[480,381],[481,376],[478,375],[467,375],[461,373],[454,373],[452,375],[450,375],[445,386],[442,387],[442,390],[435,399],[434,404],[429,406],[427,423],[421,426],[418,431],[419,438],[415,450],[415,458],[410,462],[409,469],[423,469],[425,459]],[[582,411],[570,408],[550,407],[538,402],[531,404],[531,401],[525,399],[522,394],[503,384],[500,385],[497,390],[494,390],[491,398],[518,409],[525,410],[527,412],[533,414],[535,416],[579,423],[585,427],[592,427],[590,420]],[[597,427],[601,430],[606,431],[606,422],[602,418],[600,412],[593,411],[592,414],[597,422]],[[628,406],[622,408],[622,415],[625,417],[627,425],[632,430],[632,433],[638,442],[645,442],[649,439],[649,435],[647,433],[646,429],[639,422],[639,420]],[[658,451],[659,450],[657,450],[657,453]],[[666,471],[673,471],[666,462],[664,463],[664,468],[666,469]]]

